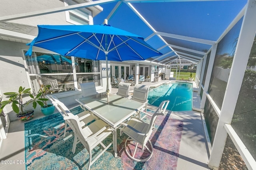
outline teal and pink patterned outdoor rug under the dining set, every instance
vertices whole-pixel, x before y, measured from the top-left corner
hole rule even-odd
[[[80,113],[80,107],[71,110],[72,113]],[[153,113],[153,111],[149,111]],[[120,136],[118,130],[118,157],[113,156],[113,147],[110,147],[94,164],[92,170],[175,170],[178,160],[180,139],[183,122],[166,116],[159,116],[156,120],[155,129],[150,137],[154,147],[152,158],[147,162],[134,162],[124,152],[124,143],[127,135]],[[149,119],[148,119],[149,121]],[[76,152],[71,152],[74,133],[69,129],[64,134],[64,120],[60,113],[55,113],[41,119],[25,123],[25,157],[28,170],[32,169],[82,169],[88,168],[89,153],[79,143]],[[108,145],[112,141],[112,135],[104,140]],[[132,149],[132,145],[129,148]],[[94,149],[94,156],[101,151],[100,147]]]

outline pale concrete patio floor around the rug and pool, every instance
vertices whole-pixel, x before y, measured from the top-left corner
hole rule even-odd
[[[143,85],[159,86],[170,80],[161,82],[143,82]],[[193,109],[197,111],[169,111],[170,117],[183,121],[184,127],[178,153],[177,170],[207,170],[208,169],[208,141],[205,135],[204,118],[200,111],[200,98],[197,95],[197,87],[194,84]],[[130,86],[130,94],[133,93],[134,86]],[[112,88],[111,93],[117,93],[118,88]],[[148,106],[148,109],[155,110],[156,106]],[[43,115],[42,115],[43,116]],[[34,117],[31,121],[39,119],[42,116]],[[172,139],[170,139],[172,140]],[[12,160],[15,164],[0,164],[0,170],[25,170],[26,165],[24,151],[24,123],[10,122],[8,137],[2,140],[0,148],[0,160]],[[20,164],[17,164],[20,162]],[[168,169],[168,167],[166,167]]]

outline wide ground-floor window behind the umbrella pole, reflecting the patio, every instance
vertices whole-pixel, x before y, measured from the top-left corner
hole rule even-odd
[[[76,90],[83,82],[95,82],[96,86],[101,86],[100,61],[74,57],[76,72],[73,72],[72,57],[69,56],[33,52],[25,59],[34,94],[38,93],[40,84],[51,85],[53,92]]]

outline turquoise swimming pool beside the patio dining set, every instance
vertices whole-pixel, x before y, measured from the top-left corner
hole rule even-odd
[[[149,90],[148,104],[159,106],[162,101],[170,100],[168,110],[192,110],[192,90],[192,83],[171,82],[162,84]]]

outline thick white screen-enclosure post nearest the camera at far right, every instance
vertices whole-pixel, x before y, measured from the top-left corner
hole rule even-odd
[[[227,137],[227,131],[224,126],[225,124],[230,124],[232,121],[240,87],[244,78],[244,72],[246,70],[252,43],[256,33],[256,22],[254,22],[255,18],[255,0],[248,0],[240,35],[238,37],[234,59],[232,62],[232,67],[230,70],[226,93],[220,111],[220,118],[212,145],[212,153],[210,155],[208,164],[210,168],[218,168],[220,164]],[[245,157],[246,155],[244,155],[243,159],[246,159]],[[252,160],[251,162],[254,164],[255,160]],[[245,161],[245,163],[248,169],[255,168],[251,166],[252,164],[250,164],[250,162]]]

